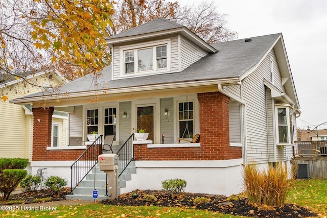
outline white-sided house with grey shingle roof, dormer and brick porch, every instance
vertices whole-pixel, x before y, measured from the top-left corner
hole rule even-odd
[[[71,181],[69,166],[86,148],[51,146],[54,110],[69,113],[69,138],[115,135],[114,151],[137,129],[147,130],[148,140],[134,144],[136,174],[122,192],[181,178],[186,191],[229,196],[243,188],[243,164],[291,169],[300,111],[281,33],[207,44],[158,18],[107,43],[112,64],[98,86],[88,75],[62,86],[62,94],[11,101],[33,104],[32,171],[48,167]],[[177,143],[197,133],[199,143]]]

